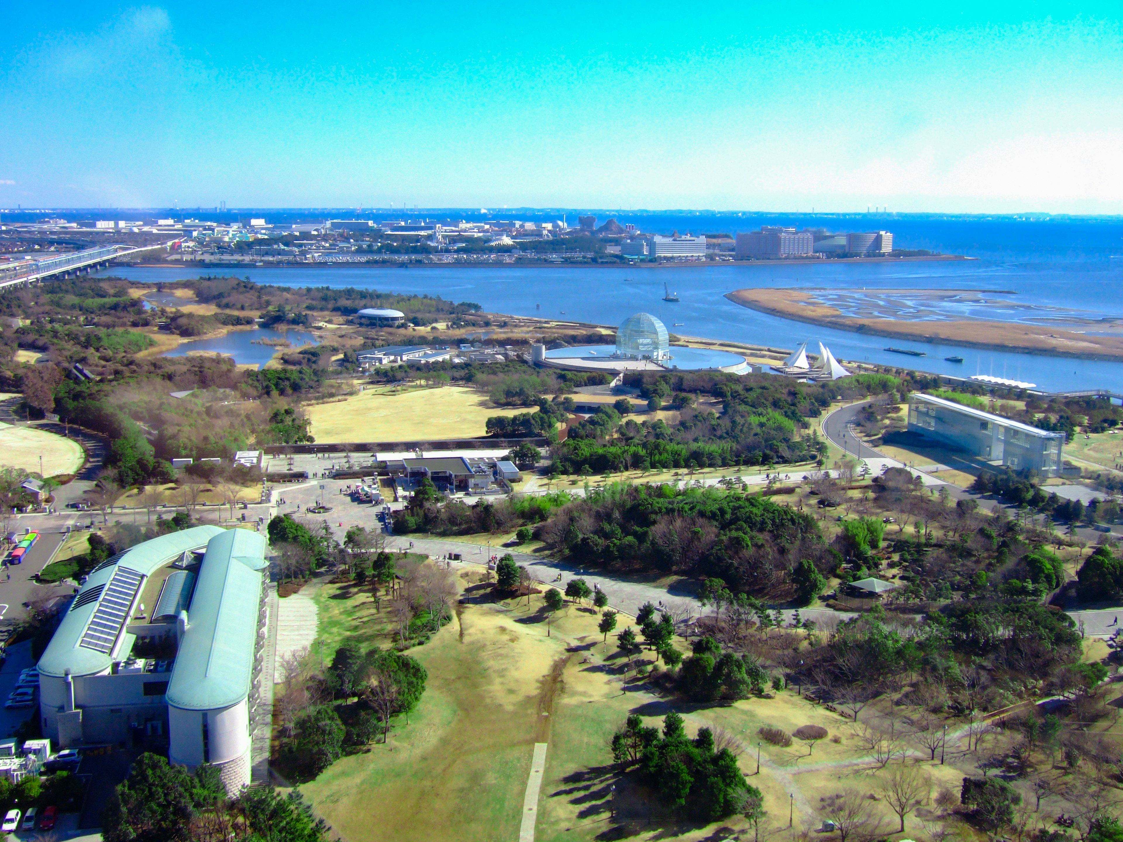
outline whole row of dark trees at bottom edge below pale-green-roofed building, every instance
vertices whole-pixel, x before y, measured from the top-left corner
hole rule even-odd
[[[216,767],[189,772],[150,753],[133,763],[102,814],[106,842],[325,842],[329,830],[299,789],[229,798]]]

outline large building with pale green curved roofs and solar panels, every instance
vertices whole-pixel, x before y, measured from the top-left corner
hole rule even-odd
[[[265,568],[261,534],[219,527],[95,567],[39,660],[44,736],[166,750],[173,763],[218,767],[231,794],[249,784]]]

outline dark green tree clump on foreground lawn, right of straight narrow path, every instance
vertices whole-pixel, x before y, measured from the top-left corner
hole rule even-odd
[[[736,741],[719,736],[723,744],[703,727],[691,740],[677,713],[664,717],[660,734],[633,714],[612,738],[612,758],[623,769],[636,768],[663,804],[695,821],[716,822],[736,813],[759,816],[760,790],[741,775],[731,750]]]

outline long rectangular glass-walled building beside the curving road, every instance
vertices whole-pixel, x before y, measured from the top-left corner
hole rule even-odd
[[[1014,470],[1061,472],[1065,433],[921,393],[909,395],[909,431]]]

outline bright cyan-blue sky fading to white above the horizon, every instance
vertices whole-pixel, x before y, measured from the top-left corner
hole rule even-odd
[[[1121,8],[6,2],[0,207],[1123,213]]]

